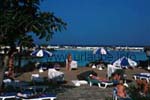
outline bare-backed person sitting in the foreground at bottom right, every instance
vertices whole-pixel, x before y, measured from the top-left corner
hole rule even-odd
[[[116,86],[117,96],[119,100],[131,100],[126,92],[126,87],[123,85],[123,80],[119,80],[119,84]]]

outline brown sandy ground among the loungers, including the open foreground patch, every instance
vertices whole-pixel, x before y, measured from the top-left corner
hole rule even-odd
[[[66,71],[65,68],[61,68],[59,71],[64,72],[66,83],[63,85],[58,85],[57,88],[52,88],[53,93],[57,94],[57,100],[106,100],[106,98],[111,98],[114,87],[108,87],[106,89],[99,88],[98,86],[90,87],[87,85],[81,85],[79,87],[74,86],[71,80],[76,80],[77,75],[85,72],[87,70],[94,70],[98,76],[106,77],[107,69],[98,70],[92,69],[90,67],[81,67],[77,70]],[[140,72],[148,72],[144,69],[135,68],[135,69],[125,69],[127,78],[131,80],[131,83],[135,83],[133,80],[133,74]],[[17,77],[18,80],[31,81],[31,74],[40,74],[42,77],[47,77],[48,72],[39,73],[38,70],[27,72]],[[107,99],[111,100],[111,99]]]

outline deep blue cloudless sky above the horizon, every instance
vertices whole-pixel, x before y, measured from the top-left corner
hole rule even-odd
[[[150,0],[44,0],[42,11],[67,23],[55,45],[150,45]]]

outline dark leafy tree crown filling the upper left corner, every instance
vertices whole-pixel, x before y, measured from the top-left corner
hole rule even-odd
[[[31,37],[27,34],[29,32],[48,41],[55,32],[66,29],[66,23],[61,18],[51,12],[40,11],[41,1],[0,0],[0,44],[15,47],[18,43],[22,46],[22,38],[28,41]]]

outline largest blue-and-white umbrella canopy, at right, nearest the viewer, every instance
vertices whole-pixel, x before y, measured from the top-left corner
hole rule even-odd
[[[137,66],[137,62],[127,57],[121,57],[118,60],[114,61],[113,65],[120,67],[135,67]]]

